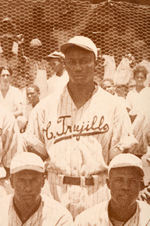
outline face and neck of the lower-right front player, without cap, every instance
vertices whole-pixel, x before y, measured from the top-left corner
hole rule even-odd
[[[112,169],[107,186],[111,192],[109,217],[118,221],[128,221],[136,212],[136,200],[144,188],[142,176],[135,167]]]

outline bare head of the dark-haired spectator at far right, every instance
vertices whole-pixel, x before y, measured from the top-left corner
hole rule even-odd
[[[147,70],[144,66],[138,65],[134,70],[133,70],[133,77],[136,81],[136,85],[138,86],[143,86],[146,78],[147,78]]]

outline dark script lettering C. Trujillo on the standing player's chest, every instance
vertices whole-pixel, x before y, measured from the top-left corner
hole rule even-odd
[[[66,123],[69,118],[71,118],[71,115],[64,115],[58,118],[57,125],[59,126],[59,129],[57,129],[57,131],[52,131],[52,122],[49,121],[46,128],[43,129],[46,138],[48,140],[54,139],[54,143],[65,139],[71,139],[72,137],[76,137],[76,140],[79,141],[81,136],[103,134],[109,130],[108,124],[104,123],[104,116],[98,118],[98,116],[95,115],[91,121],[73,125],[68,125]]]

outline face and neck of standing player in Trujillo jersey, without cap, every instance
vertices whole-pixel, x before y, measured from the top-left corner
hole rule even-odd
[[[68,91],[77,108],[83,106],[95,89],[94,53],[80,47],[71,47],[65,54],[65,66],[69,74]]]

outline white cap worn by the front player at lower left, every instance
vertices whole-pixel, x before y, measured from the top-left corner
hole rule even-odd
[[[14,174],[22,170],[34,170],[40,173],[44,173],[44,162],[38,155],[34,153],[17,153],[11,161],[10,174]]]

